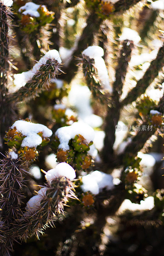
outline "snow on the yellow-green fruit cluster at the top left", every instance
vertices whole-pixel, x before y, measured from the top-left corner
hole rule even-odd
[[[37,12],[39,4],[34,4],[32,2],[26,3],[24,6],[21,6],[18,12],[22,12],[24,15],[30,15],[31,17],[40,17],[39,12]]]

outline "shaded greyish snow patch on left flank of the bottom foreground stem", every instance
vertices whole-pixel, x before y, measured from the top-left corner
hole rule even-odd
[[[37,192],[37,195],[30,198],[26,205],[27,212],[33,212],[39,208],[41,200],[46,195],[46,190],[47,188],[43,187]]]

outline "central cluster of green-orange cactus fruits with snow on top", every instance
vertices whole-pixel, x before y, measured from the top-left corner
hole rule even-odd
[[[57,161],[68,162],[76,169],[88,169],[93,163],[90,146],[93,144],[94,130],[87,124],[74,123],[59,128],[52,142],[57,153]]]

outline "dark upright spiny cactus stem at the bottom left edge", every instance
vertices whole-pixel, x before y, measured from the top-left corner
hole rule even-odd
[[[22,189],[25,186],[23,177],[25,172],[24,163],[20,159],[12,159],[9,154],[0,161],[0,208],[3,223],[0,233],[5,237],[4,242],[1,241],[0,248],[3,255],[12,251],[12,244],[16,240],[13,225],[22,215],[21,204],[24,197]]]

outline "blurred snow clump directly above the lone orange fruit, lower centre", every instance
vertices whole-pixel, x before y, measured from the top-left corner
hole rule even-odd
[[[84,192],[90,191],[92,194],[97,195],[103,188],[107,190],[114,188],[113,177],[104,172],[94,171],[82,177],[81,188]]]

